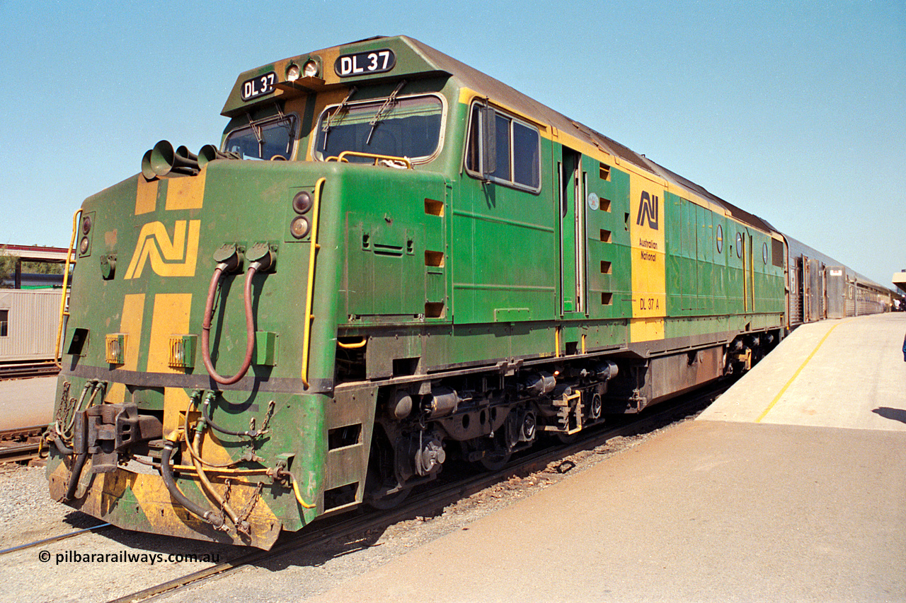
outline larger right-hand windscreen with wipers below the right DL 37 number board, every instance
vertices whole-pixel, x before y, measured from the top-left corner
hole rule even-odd
[[[439,145],[442,114],[443,104],[435,96],[330,107],[318,123],[315,155],[326,159],[348,150],[429,158]],[[349,160],[371,161],[356,157]]]

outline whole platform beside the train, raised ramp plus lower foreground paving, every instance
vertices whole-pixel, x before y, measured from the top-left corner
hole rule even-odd
[[[906,600],[904,330],[797,330],[700,420],[306,600]]]

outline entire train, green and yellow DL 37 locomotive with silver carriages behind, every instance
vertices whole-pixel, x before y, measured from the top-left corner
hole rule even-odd
[[[889,305],[407,37],[242,73],[223,115],[78,216],[47,474],[124,528],[268,548]]]

